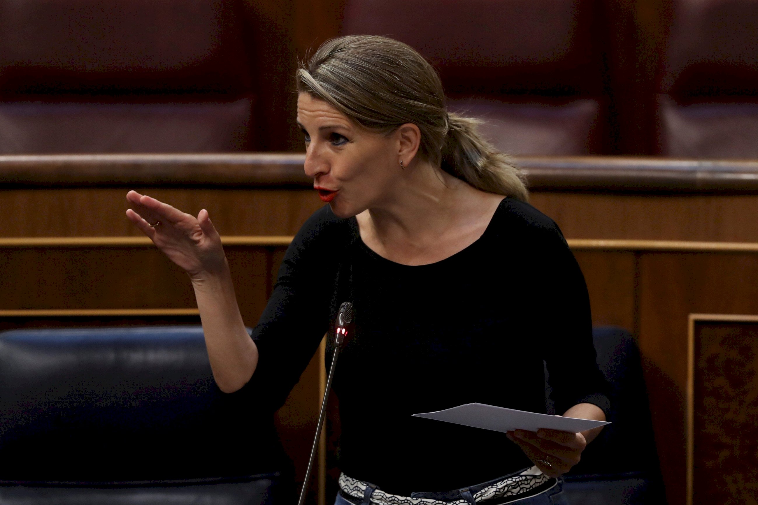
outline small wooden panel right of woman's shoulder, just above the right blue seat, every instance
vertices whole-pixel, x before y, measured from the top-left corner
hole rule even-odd
[[[590,291],[592,323],[635,331],[636,258],[631,251],[574,251]]]

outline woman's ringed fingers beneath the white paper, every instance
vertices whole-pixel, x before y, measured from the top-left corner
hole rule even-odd
[[[554,429],[540,429],[535,433],[517,429],[506,435],[549,477],[568,472],[579,463],[581,451],[587,447],[587,439],[581,433],[559,432]]]

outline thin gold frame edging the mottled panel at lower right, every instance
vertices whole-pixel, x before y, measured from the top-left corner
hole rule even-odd
[[[686,505],[694,500],[694,438],[695,438],[695,324],[698,322],[758,323],[758,316],[748,314],[697,314],[688,317],[687,343],[687,496]]]

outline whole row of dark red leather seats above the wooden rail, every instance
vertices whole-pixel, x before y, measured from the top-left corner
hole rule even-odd
[[[750,0],[8,0],[0,153],[302,151],[298,58],[392,36],[513,154],[754,157]]]

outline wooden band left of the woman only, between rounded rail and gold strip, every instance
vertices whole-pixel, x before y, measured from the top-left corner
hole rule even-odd
[[[155,189],[138,192],[197,215],[207,209],[222,235],[294,235],[324,203],[311,190]],[[124,214],[127,189],[0,191],[0,237],[139,236]]]

